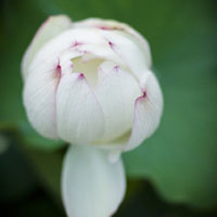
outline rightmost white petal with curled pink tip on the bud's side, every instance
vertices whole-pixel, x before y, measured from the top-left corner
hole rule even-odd
[[[163,95],[154,74],[149,72],[141,79],[144,94],[135,103],[133,126],[126,151],[135,149],[158,127],[163,111]]]

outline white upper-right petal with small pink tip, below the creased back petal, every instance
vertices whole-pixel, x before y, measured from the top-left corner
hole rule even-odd
[[[105,38],[110,48],[120,58],[129,69],[137,76],[141,77],[150,67],[151,55],[149,49],[143,49],[138,40],[123,31],[103,31],[100,34]]]

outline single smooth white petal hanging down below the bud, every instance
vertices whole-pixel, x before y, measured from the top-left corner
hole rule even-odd
[[[93,146],[72,146],[64,161],[63,201],[68,217],[111,217],[125,194],[122,161]]]

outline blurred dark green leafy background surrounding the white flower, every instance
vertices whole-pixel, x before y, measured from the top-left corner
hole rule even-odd
[[[1,0],[0,207],[5,217],[64,217],[66,144],[38,136],[22,105],[21,60],[54,14],[128,23],[150,42],[165,99],[162,124],[124,154],[128,191],[115,217],[217,217],[215,0]]]

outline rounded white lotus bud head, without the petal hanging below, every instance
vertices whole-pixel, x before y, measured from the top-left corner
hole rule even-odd
[[[27,116],[47,138],[133,149],[162,115],[150,66],[148,42],[126,24],[50,17],[23,60]]]

